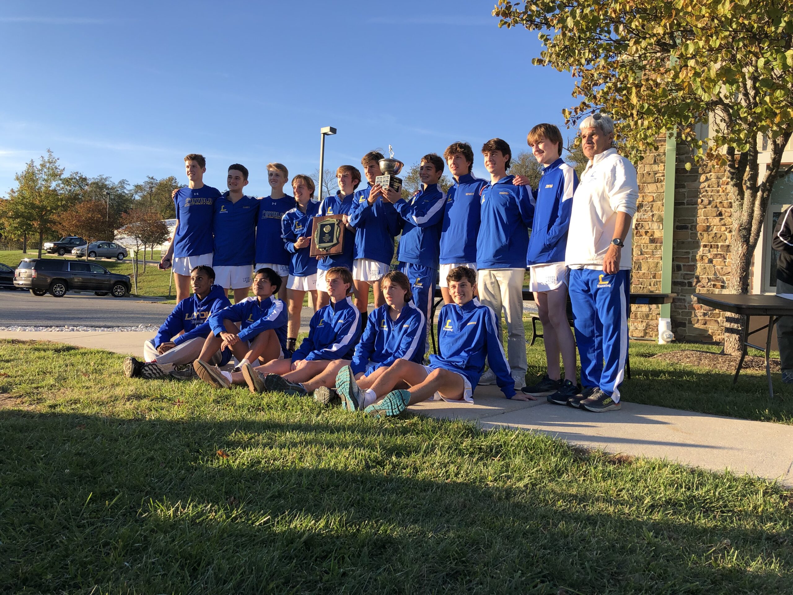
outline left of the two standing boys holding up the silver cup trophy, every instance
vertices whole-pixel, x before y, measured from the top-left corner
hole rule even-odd
[[[394,237],[400,232],[397,211],[390,202],[383,200],[382,187],[374,185],[375,178],[382,173],[380,159],[383,159],[383,154],[377,151],[363,155],[361,165],[367,186],[355,193],[349,219],[355,228],[352,263],[355,305],[362,313],[366,313],[369,304],[369,286],[372,286],[374,307],[379,308],[385,303],[380,280],[389,272],[394,255]]]

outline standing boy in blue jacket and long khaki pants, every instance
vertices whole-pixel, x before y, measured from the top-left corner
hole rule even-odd
[[[485,305],[501,322],[505,310],[507,353],[515,387],[526,386],[526,332],[523,329],[523,274],[529,228],[534,218],[534,195],[529,186],[515,186],[507,175],[511,149],[499,138],[482,146],[490,183],[482,190],[481,227],[477,235],[477,287]],[[496,375],[488,370],[480,384],[493,384]]]

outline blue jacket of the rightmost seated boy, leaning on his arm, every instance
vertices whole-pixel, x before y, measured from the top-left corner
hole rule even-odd
[[[458,372],[477,386],[485,369],[485,357],[496,374],[496,383],[508,399],[515,396],[512,379],[501,345],[496,314],[477,298],[464,305],[446,304],[438,320],[438,355],[430,355],[430,367]]]

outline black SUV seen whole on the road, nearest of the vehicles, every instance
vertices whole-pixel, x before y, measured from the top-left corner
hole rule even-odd
[[[56,298],[70,290],[123,298],[130,290],[125,274],[111,273],[95,263],[61,259],[23,259],[14,271],[13,284],[33,295],[49,292]]]

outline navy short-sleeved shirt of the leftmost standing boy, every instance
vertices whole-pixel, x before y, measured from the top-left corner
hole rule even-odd
[[[219,196],[220,190],[212,186],[179,188],[174,196],[174,209],[179,220],[174,235],[174,258],[212,252],[213,205]]]

